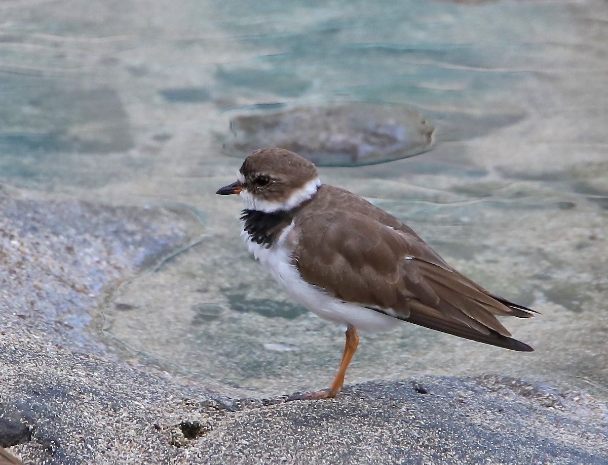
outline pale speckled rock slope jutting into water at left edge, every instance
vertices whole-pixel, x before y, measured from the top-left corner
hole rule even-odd
[[[201,231],[187,209],[37,199],[0,185],[0,331],[105,351],[89,331],[100,310],[90,310]]]

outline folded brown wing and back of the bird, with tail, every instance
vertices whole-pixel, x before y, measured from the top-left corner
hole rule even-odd
[[[386,212],[350,192],[331,189],[320,189],[311,202],[316,205],[303,210],[296,224],[300,234],[294,263],[308,282],[404,321],[486,344],[531,350],[511,339],[495,316],[530,317],[531,310],[489,294],[453,270]],[[302,254],[302,249],[316,253]]]

